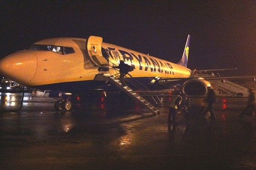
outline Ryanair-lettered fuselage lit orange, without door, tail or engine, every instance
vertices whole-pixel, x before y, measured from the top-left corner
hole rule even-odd
[[[54,51],[28,49],[18,51],[0,60],[0,74],[28,87],[53,87],[65,83],[93,81],[98,68],[91,62],[86,50],[86,39],[52,38],[34,45],[52,45],[73,48],[69,54]],[[109,66],[119,65],[120,60],[134,67],[131,74],[139,77],[188,78],[191,70],[157,57],[102,42],[108,54]],[[111,67],[109,67],[111,68]],[[116,70],[110,69],[111,74]]]

